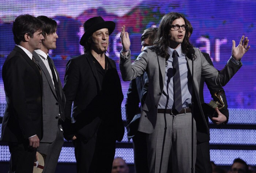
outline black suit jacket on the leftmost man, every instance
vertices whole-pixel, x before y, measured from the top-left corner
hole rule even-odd
[[[15,46],[2,69],[6,109],[1,140],[22,142],[33,135],[41,140],[42,77],[37,65]]]

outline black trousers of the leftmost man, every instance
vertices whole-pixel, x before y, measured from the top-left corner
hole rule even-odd
[[[11,153],[9,173],[33,173],[37,149],[29,146],[29,139],[23,143],[9,142]]]

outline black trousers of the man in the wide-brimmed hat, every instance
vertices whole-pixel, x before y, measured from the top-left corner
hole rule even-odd
[[[73,140],[77,173],[111,173],[116,151],[116,139],[108,128],[99,126],[88,142]]]

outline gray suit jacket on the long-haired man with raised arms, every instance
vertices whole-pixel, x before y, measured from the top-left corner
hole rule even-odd
[[[201,76],[216,82],[218,85],[224,86],[231,77],[240,69],[241,65],[236,65],[231,61],[228,61],[225,68],[220,72],[210,65],[204,58],[201,51],[195,49],[196,59],[194,60],[194,92],[197,103],[201,103],[199,97],[199,86]],[[121,56],[120,56],[121,57]],[[189,71],[192,74],[192,60],[186,57]],[[121,76],[124,81],[132,80],[143,72],[148,74],[148,93],[145,100],[145,104],[142,108],[142,115],[140,118],[139,131],[145,133],[152,133],[157,121],[157,107],[158,102],[163,91],[163,84],[165,80],[165,58],[158,56],[154,51],[146,47],[138,58],[131,64],[131,55],[125,60],[120,58],[120,70]],[[209,134],[207,122],[204,118],[203,110],[200,104],[198,104],[200,112],[200,119],[203,122],[206,133]]]

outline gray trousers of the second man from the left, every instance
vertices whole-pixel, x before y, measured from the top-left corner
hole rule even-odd
[[[55,141],[52,143],[39,143],[37,151],[46,154],[46,160],[43,173],[55,173],[55,169],[60,156],[60,151],[64,143],[64,138],[61,130],[56,135]]]

